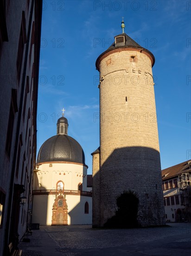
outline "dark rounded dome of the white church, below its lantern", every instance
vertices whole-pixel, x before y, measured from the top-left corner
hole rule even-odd
[[[57,161],[76,162],[85,165],[83,148],[68,135],[52,136],[39,149],[37,163]]]

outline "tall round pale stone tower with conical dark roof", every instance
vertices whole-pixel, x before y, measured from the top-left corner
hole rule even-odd
[[[138,194],[138,221],[162,225],[163,191],[152,67],[154,56],[124,33],[96,61],[100,72],[100,170],[93,226],[115,215],[116,197]],[[93,170],[94,173],[94,170]],[[96,181],[99,181],[96,183]],[[93,197],[93,204],[98,203]]]

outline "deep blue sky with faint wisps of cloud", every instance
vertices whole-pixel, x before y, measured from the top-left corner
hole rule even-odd
[[[64,107],[68,134],[83,147],[88,173],[99,146],[95,62],[125,33],[155,56],[155,100],[162,169],[191,159],[191,1],[45,0],[38,84],[38,150],[56,135]]]

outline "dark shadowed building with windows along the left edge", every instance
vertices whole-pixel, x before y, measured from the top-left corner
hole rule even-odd
[[[34,3],[34,5],[33,5]],[[0,256],[30,223],[42,0],[0,1]],[[20,197],[27,198],[24,205]]]

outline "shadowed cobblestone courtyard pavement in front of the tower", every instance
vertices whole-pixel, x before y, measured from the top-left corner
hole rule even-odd
[[[19,249],[22,256],[190,256],[191,223],[168,224],[142,229],[40,226]]]

